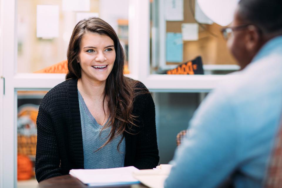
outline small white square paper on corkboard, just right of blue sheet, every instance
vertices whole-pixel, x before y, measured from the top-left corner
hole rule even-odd
[[[182,40],[197,41],[199,39],[199,25],[196,23],[182,24]]]

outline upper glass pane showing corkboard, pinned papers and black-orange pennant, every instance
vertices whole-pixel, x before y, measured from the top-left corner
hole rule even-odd
[[[178,6],[172,1],[151,1],[152,74],[167,73],[166,70],[177,68],[197,56],[201,56],[204,69],[207,69],[205,74],[225,74],[239,69],[221,35],[222,27],[203,18],[205,15],[196,2],[183,0],[183,4]],[[191,66],[191,69],[195,70],[197,66]],[[186,68],[183,70],[189,74]],[[183,71],[179,69],[174,73],[182,74]]]

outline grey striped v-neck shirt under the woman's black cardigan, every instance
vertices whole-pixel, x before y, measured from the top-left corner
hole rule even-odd
[[[125,139],[122,140],[119,150],[117,150],[117,145],[122,135],[116,135],[111,142],[96,151],[109,139],[108,135],[111,130],[111,124],[102,130],[103,126],[99,125],[93,115],[91,115],[79,91],[78,102],[82,130],[84,168],[101,169],[123,167]],[[105,124],[108,123],[109,119]]]

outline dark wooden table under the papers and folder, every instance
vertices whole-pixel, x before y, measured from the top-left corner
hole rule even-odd
[[[71,175],[63,175],[52,177],[50,179],[46,179],[41,181],[38,184],[38,188],[90,188],[91,186],[87,186],[80,182],[77,178]],[[142,184],[132,184],[132,185],[118,185],[118,186],[103,186],[103,188],[147,188],[147,186]]]

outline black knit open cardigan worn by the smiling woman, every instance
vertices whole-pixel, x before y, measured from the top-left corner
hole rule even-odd
[[[147,90],[138,83],[138,88]],[[155,104],[150,93],[138,95],[133,103],[135,127],[125,136],[124,166],[151,169],[159,162]],[[66,80],[42,99],[37,117],[35,174],[38,182],[83,169],[83,142],[77,80]],[[95,140],[93,140],[94,142]]]

